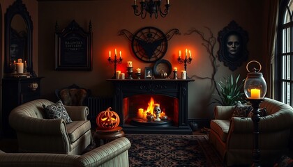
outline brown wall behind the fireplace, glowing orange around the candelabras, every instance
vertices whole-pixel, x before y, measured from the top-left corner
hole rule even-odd
[[[5,2],[4,2],[5,1]],[[10,0],[11,1],[11,0]],[[24,1],[28,3],[27,0]],[[5,13],[8,1],[0,0],[2,11]],[[93,95],[108,97],[112,95],[110,79],[113,76],[114,66],[107,63],[108,52],[111,49],[121,50],[123,63],[118,65],[119,70],[126,71],[126,62],[133,61],[134,68],[152,67],[153,64],[142,63],[132,54],[130,41],[124,36],[118,35],[121,29],[135,33],[144,26],[155,26],[167,33],[170,29],[179,29],[181,35],[174,35],[168,41],[168,50],[164,59],[172,63],[173,67],[183,70],[183,65],[176,62],[179,49],[185,48],[193,52],[193,62],[188,65],[188,76],[211,77],[212,66],[209,54],[202,46],[202,39],[193,33],[186,35],[191,28],[198,29],[209,37],[209,27],[213,35],[218,37],[218,32],[235,20],[239,26],[248,31],[248,61],[263,61],[265,50],[266,14],[264,0],[171,0],[170,14],[158,19],[141,19],[133,14],[131,8],[133,1],[121,0],[96,0],[96,1],[38,1],[28,3],[28,10],[33,15],[34,38],[33,65],[38,76],[42,80],[42,96],[49,100],[57,100],[54,90],[77,84],[91,89]],[[165,1],[163,1],[165,3]],[[2,16],[3,17],[3,16]],[[59,23],[60,29],[66,27],[73,19],[88,30],[89,21],[93,25],[93,70],[92,71],[55,71],[54,70],[54,26]],[[2,26],[3,27],[3,26]],[[36,35],[36,32],[38,34]],[[2,30],[3,34],[3,30]],[[3,41],[3,39],[1,40]],[[37,41],[37,43],[36,43]],[[2,45],[3,48],[3,45]],[[214,48],[214,54],[219,49],[218,42]],[[37,53],[35,52],[37,51]],[[3,51],[2,51],[3,55]],[[3,60],[3,56],[2,56]],[[216,79],[225,77],[231,73],[241,74],[246,77],[246,63],[243,62],[234,72],[225,67],[218,60],[218,72]],[[3,62],[3,61],[2,61]],[[264,65],[265,66],[265,65]],[[266,68],[264,68],[266,69]],[[262,71],[265,72],[265,71]],[[205,119],[213,117],[213,105],[208,105],[206,98],[211,95],[211,81],[209,79],[197,79],[189,84],[188,118]]]

